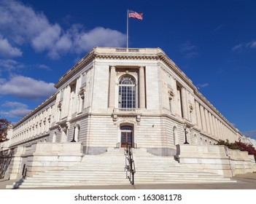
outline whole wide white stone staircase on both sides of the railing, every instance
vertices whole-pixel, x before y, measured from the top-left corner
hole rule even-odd
[[[158,157],[146,149],[133,149],[135,184],[184,184],[235,182],[213,173],[197,172],[171,157]],[[88,185],[128,185],[124,149],[108,149],[98,155],[85,155],[77,165],[63,170],[47,170],[8,185],[12,188],[72,187]]]

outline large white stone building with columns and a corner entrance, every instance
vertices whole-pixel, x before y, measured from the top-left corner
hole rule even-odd
[[[23,148],[20,169],[35,144],[65,144],[82,155],[131,144],[172,157],[179,145],[211,146],[243,137],[160,48],[95,47],[55,87],[1,144]],[[45,151],[53,156],[55,150]]]

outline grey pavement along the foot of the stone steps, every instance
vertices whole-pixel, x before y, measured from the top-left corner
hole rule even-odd
[[[256,173],[238,174],[230,184],[138,184],[115,186],[52,187],[40,189],[256,189]],[[0,179],[0,189],[19,180]]]

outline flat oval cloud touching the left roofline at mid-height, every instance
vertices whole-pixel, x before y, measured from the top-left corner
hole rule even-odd
[[[0,95],[14,95],[18,98],[45,98],[55,93],[53,83],[32,79],[26,76],[13,76],[0,84]]]

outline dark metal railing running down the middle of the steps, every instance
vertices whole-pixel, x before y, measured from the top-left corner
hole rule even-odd
[[[126,178],[128,178],[131,184],[134,185],[134,173],[136,173],[136,170],[133,160],[133,151],[131,145],[128,144],[126,145],[125,149],[125,171]]]

